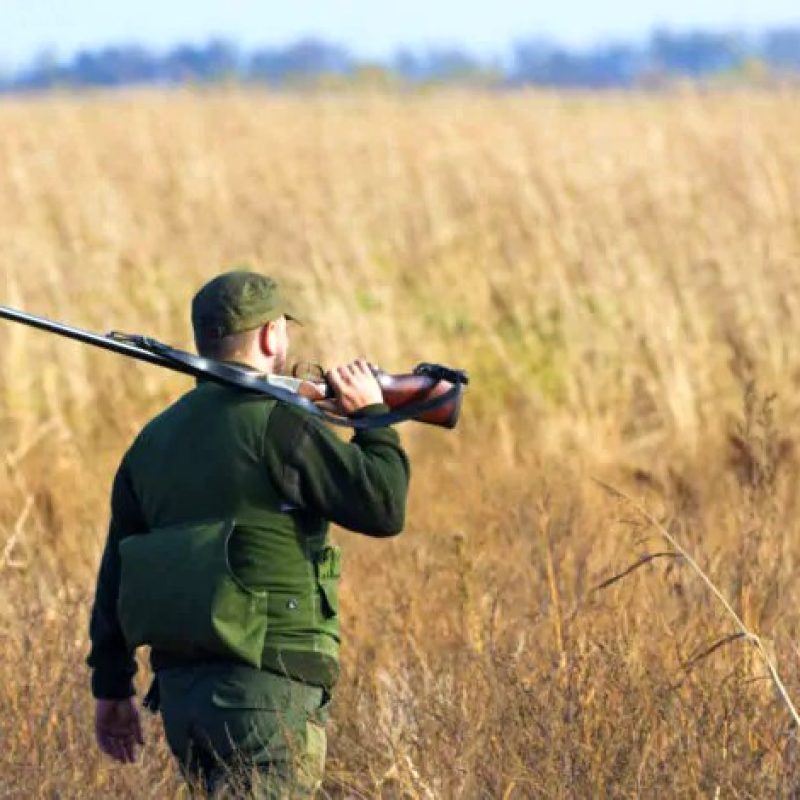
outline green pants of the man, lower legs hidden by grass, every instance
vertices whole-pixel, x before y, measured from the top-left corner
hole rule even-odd
[[[307,798],[322,783],[327,693],[245,665],[160,670],[170,750],[214,798]]]

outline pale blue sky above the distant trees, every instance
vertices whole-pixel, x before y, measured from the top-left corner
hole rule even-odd
[[[798,0],[0,0],[0,65],[53,48],[140,42],[167,47],[221,35],[245,47],[313,34],[365,56],[400,44],[501,53],[522,36],[571,45],[636,38],[656,25],[758,30],[800,24]]]

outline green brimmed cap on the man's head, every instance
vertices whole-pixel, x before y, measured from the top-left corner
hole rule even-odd
[[[275,280],[247,270],[217,275],[192,300],[192,327],[198,339],[221,339],[282,316],[297,321]]]

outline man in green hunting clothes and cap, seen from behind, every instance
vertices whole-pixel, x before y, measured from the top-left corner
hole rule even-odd
[[[286,366],[291,319],[277,284],[253,272],[220,275],[192,301],[200,355],[266,375]],[[328,380],[341,412],[387,411],[366,362],[338,367]],[[236,585],[264,603],[260,668],[224,647],[178,646],[184,639],[191,645],[195,623],[210,629],[203,628],[198,601],[192,606],[198,619],[176,629],[174,642],[153,647],[150,697],[159,697],[167,741],[191,783],[220,797],[313,795],[339,666],[339,554],[329,544],[328,523],[373,536],[399,533],[408,479],[408,460],[391,428],[359,431],[346,443],[296,406],[210,381],[198,381],[151,420],[114,479],[92,609],[88,663],[100,748],[129,763],[143,744],[133,648],[120,624],[121,550],[160,536],[169,554],[172,542],[191,541],[193,525],[235,520],[225,559]],[[183,536],[173,536],[176,526]],[[149,590],[137,600],[142,613],[156,604],[155,615],[169,617],[172,601],[159,598],[175,596],[171,576],[177,581],[189,570],[191,580],[178,594],[203,589],[207,580],[191,576],[200,570],[195,555],[179,556],[173,572],[159,572],[164,565],[157,558],[151,563]],[[219,580],[233,585],[227,574]],[[214,624],[228,634],[237,623]]]

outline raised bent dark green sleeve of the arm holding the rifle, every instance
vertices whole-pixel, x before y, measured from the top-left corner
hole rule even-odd
[[[383,414],[383,404],[360,416]],[[409,463],[393,428],[342,441],[318,419],[279,404],[270,415],[265,459],[286,499],[359,533],[392,536],[405,523]]]

